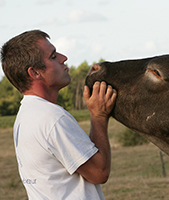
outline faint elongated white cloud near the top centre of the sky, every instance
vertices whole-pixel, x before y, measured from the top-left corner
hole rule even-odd
[[[68,15],[68,21],[72,23],[101,21],[101,20],[106,20],[106,18],[99,13],[93,13],[81,9],[72,10]]]

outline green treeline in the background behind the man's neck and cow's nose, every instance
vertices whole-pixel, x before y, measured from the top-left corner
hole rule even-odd
[[[102,61],[104,60],[99,60],[99,62]],[[66,110],[86,109],[83,88],[90,67],[84,61],[77,68],[75,66],[69,68],[71,83],[59,92],[57,104]],[[19,109],[21,99],[22,95],[4,77],[0,82],[0,116],[15,115]]]

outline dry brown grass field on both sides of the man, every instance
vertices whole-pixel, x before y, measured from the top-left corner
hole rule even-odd
[[[79,122],[88,133],[90,121]],[[116,140],[125,127],[111,119],[109,138],[112,168],[102,185],[106,200],[168,200],[169,157],[163,154],[167,177],[163,177],[160,150],[152,144],[121,147]],[[17,172],[12,128],[0,129],[0,200],[26,200]]]

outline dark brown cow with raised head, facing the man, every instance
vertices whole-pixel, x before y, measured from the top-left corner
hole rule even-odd
[[[169,155],[169,55],[94,64],[91,93],[96,81],[117,90],[111,116]]]

